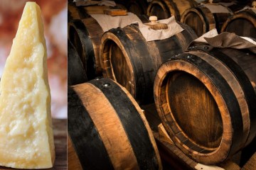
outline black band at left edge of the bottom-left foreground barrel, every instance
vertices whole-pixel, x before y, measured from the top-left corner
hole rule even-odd
[[[89,113],[72,87],[68,87],[68,133],[83,169],[114,169]]]

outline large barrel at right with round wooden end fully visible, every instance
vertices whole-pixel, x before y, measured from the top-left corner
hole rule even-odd
[[[256,56],[196,45],[161,65],[154,98],[171,140],[202,164],[217,164],[256,135]]]

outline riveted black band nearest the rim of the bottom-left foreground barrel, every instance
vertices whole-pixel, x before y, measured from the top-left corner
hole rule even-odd
[[[139,169],[159,169],[149,132],[127,94],[110,79],[92,80],[90,83],[102,91],[119,116],[137,158]]]

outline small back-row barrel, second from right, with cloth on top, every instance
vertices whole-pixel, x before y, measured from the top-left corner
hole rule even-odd
[[[206,6],[211,6],[211,9]],[[216,28],[220,33],[223,23],[233,13],[228,7],[220,4],[206,4],[206,6],[201,5],[196,8],[190,8],[181,16],[181,23],[186,23],[193,28],[198,36],[207,33],[213,28]],[[215,13],[218,8],[220,8],[220,11]]]

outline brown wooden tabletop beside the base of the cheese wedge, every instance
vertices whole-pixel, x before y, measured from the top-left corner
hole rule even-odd
[[[53,134],[55,145],[55,162],[53,170],[67,169],[67,120],[53,119]],[[11,169],[0,166],[0,169]]]

